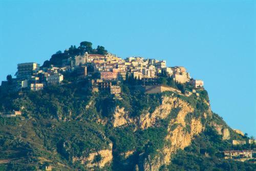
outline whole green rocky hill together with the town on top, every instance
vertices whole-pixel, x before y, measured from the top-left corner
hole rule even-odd
[[[15,76],[0,87],[0,170],[255,168],[256,140],[211,111],[184,67],[83,41]]]

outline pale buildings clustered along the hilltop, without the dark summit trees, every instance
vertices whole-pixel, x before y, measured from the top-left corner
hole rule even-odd
[[[49,84],[61,84],[65,72],[74,73],[76,77],[81,79],[99,72],[100,79],[92,80],[94,91],[101,89],[101,87],[111,88],[114,86],[111,85],[112,80],[125,80],[127,75],[144,80],[157,79],[161,75],[172,76],[177,82],[190,81],[194,88],[203,87],[203,81],[191,79],[184,67],[166,67],[165,60],[144,59],[143,57],[122,59],[111,53],[100,55],[88,54],[87,52],[83,55],[60,60],[60,65],[51,65],[50,67],[39,67],[38,63],[35,62],[19,63],[16,78],[12,79],[11,84],[8,81],[2,81],[2,87],[9,86],[12,91],[42,90]],[[119,91],[114,87],[112,89]]]

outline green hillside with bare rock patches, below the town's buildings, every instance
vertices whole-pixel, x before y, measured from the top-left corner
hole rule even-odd
[[[225,158],[224,151],[255,143],[211,111],[206,90],[186,95],[191,84],[162,73],[164,91],[148,93],[153,89],[126,74],[111,81],[118,95],[93,91],[95,71],[63,73],[61,84],[37,91],[2,88],[0,170],[256,170],[254,158]],[[3,117],[13,110],[22,115]]]

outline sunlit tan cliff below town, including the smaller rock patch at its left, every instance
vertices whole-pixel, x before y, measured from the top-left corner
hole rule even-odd
[[[174,109],[180,109],[177,116],[171,116],[171,111]],[[171,156],[175,154],[177,149],[184,149],[190,144],[193,137],[204,129],[201,117],[206,119],[206,113],[198,118],[191,118],[190,122],[186,123],[186,115],[193,112],[194,108],[184,100],[174,96],[163,96],[162,103],[153,113],[145,112],[135,118],[130,118],[124,108],[120,109],[117,106],[112,123],[115,127],[133,123],[138,129],[144,130],[156,126],[157,121],[161,119],[172,118],[168,123],[165,145],[159,149],[160,155],[147,156],[142,163],[143,170],[158,170],[163,164],[168,165],[170,163]],[[187,127],[189,127],[189,131],[186,130]]]

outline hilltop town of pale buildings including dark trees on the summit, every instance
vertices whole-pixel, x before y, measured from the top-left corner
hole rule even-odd
[[[64,53],[58,51],[42,66],[36,62],[18,63],[15,75],[16,78],[9,75],[7,81],[2,81],[2,91],[37,91],[52,84],[82,79],[90,80],[92,91],[110,89],[116,95],[121,93],[118,82],[125,80],[137,82],[147,93],[175,90],[191,95],[204,85],[202,80],[191,78],[184,67],[167,67],[165,60],[143,57],[122,59],[107,53],[103,47],[93,50],[91,42],[87,41],[81,42],[79,48],[71,46]],[[167,84],[167,81],[172,82]],[[185,90],[185,84],[193,90]]]

